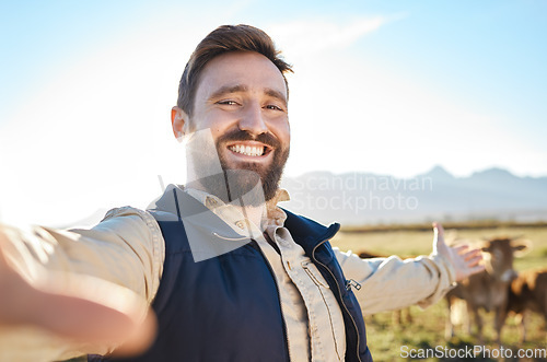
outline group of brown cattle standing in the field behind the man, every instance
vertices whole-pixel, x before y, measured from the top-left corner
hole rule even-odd
[[[446,337],[454,336],[454,317],[459,310],[454,305],[466,305],[467,331],[472,334],[472,322],[476,325],[477,338],[482,342],[482,318],[479,311],[494,312],[497,342],[501,342],[501,330],[509,314],[515,315],[521,332],[521,342],[526,339],[526,315],[535,312],[543,315],[547,324],[547,268],[516,272],[515,256],[529,249],[528,241],[510,237],[493,237],[482,241],[485,270],[474,275],[446,294],[449,313]],[[381,257],[368,252],[361,258]],[[459,302],[459,303],[456,303]]]

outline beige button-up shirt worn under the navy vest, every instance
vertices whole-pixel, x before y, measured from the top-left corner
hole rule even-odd
[[[187,191],[234,231],[247,236],[258,235],[257,243],[279,284],[291,360],[344,360],[346,337],[338,303],[319,271],[283,227],[286,214],[277,207],[277,201],[287,195],[280,192],[267,205],[260,225],[257,225],[245,219],[237,208],[222,205],[214,197],[216,207],[211,207],[210,195]],[[147,211],[130,207],[114,209],[91,230],[59,231],[35,226],[31,232],[23,232],[8,226],[2,229],[11,241],[8,247],[11,261],[33,282],[43,282],[49,275],[59,279],[62,275],[66,281],[58,288],[72,292],[74,288],[108,290],[108,295],[119,295],[119,300],[110,301],[118,304],[129,303],[128,290],[148,303],[155,296],[165,246],[155,219]],[[261,237],[263,231],[279,253]],[[351,252],[336,248],[335,254],[346,278],[362,285],[353,292],[363,314],[412,304],[428,306],[439,301],[454,282],[453,267],[443,255],[403,261],[397,257],[363,260]],[[119,293],[113,293],[113,289]],[[60,360],[83,353],[105,353],[114,347],[75,346],[33,327],[0,329],[0,361]]]

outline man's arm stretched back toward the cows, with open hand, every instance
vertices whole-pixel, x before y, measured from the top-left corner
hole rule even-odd
[[[354,294],[365,315],[414,304],[427,307],[443,297],[454,282],[484,270],[480,249],[447,246],[442,225],[434,224],[433,231],[433,252],[429,256],[361,259],[337,250],[346,278],[361,284]]]

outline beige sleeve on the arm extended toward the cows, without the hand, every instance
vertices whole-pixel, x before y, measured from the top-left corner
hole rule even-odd
[[[415,304],[424,308],[437,303],[455,281],[454,268],[439,254],[405,260],[397,256],[361,259],[336,249],[336,257],[346,278],[361,284],[353,292],[365,315]]]

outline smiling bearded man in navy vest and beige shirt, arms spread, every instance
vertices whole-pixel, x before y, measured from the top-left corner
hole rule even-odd
[[[330,246],[338,224],[277,206],[288,197],[279,180],[290,145],[290,70],[260,30],[217,28],[186,65],[172,110],[186,147],[185,186],[171,185],[147,211],[110,210],[91,230],[3,227],[10,261],[0,262],[0,292],[34,302],[5,297],[0,343],[3,336],[13,343],[4,350],[19,360],[32,351],[59,359],[126,342],[131,352],[151,340],[153,322],[135,327],[151,305],[156,339],[131,360],[371,361],[361,310],[427,306],[479,271],[479,250],[447,247],[440,225],[430,257],[361,260]],[[61,313],[54,322],[25,317],[33,304]],[[59,326],[67,318],[75,326]],[[18,343],[25,350],[13,352]]]

